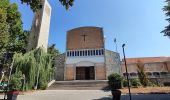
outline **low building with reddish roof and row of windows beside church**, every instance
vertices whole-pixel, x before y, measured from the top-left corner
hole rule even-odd
[[[138,64],[142,63],[148,78],[164,78],[170,73],[170,57],[127,58],[127,69],[130,78],[138,77]],[[124,60],[121,63],[121,72],[126,76]]]

